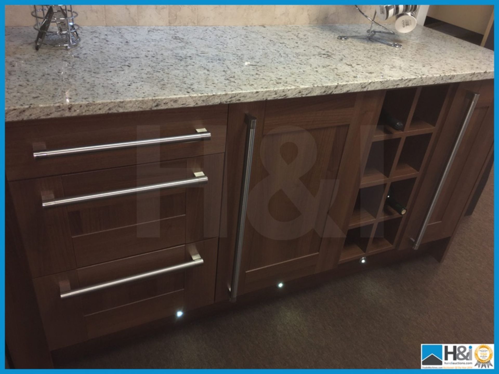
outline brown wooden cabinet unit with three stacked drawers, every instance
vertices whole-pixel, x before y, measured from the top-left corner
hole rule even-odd
[[[214,302],[227,110],[106,115],[84,136],[7,124],[6,198],[50,350]]]

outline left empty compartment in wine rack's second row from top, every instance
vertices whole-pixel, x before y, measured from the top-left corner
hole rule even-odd
[[[400,139],[372,142],[361,185],[383,183],[390,176]]]

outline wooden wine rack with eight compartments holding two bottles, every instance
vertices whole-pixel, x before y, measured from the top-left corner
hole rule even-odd
[[[382,115],[363,157],[360,183],[338,263],[397,248],[404,221],[437,130],[445,117],[450,85],[387,91]],[[402,123],[391,127],[386,114]],[[404,211],[386,203],[390,191]]]

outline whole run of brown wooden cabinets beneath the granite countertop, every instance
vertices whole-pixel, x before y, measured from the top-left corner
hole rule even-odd
[[[492,155],[492,81],[8,122],[9,242],[38,346],[409,257],[470,93],[421,240],[443,258],[427,244],[452,238]]]

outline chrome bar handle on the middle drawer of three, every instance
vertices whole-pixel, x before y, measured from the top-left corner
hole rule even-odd
[[[91,193],[88,195],[79,195],[72,197],[54,198],[50,200],[42,200],[41,206],[44,208],[58,205],[68,205],[76,202],[97,200],[106,197],[116,197],[130,195],[138,192],[153,191],[156,189],[189,187],[194,185],[202,185],[208,183],[208,177],[203,172],[194,173],[194,178],[181,179],[178,181],[158,183],[156,185],[148,185],[133,188],[115,189],[114,191]]]

